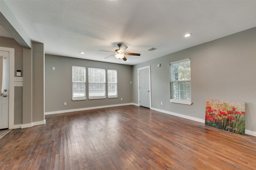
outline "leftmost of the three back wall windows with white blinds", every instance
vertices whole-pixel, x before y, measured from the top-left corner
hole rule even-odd
[[[86,100],[84,66],[72,66],[72,100]]]

